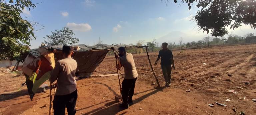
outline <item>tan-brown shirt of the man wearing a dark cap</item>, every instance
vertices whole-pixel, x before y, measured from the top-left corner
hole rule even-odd
[[[58,76],[56,95],[70,94],[76,90],[77,62],[72,58],[65,58],[57,61],[52,76]]]

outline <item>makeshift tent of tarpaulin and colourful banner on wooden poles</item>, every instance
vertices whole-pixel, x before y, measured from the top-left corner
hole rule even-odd
[[[102,62],[110,50],[118,49],[119,47],[126,48],[146,48],[147,46],[120,46],[120,45],[97,45],[87,46],[84,44],[75,45],[74,54],[72,58],[77,61],[77,77],[88,77],[96,69],[96,67]],[[54,52],[53,52],[54,51]],[[149,59],[149,55],[147,52]],[[32,49],[29,51],[23,64],[23,72],[26,76],[26,84],[30,99],[32,100],[38,87],[50,78],[50,71],[54,68],[55,62],[62,59],[62,46],[41,46],[39,49]],[[150,62],[150,59],[149,59]],[[33,66],[31,66],[33,65]],[[150,62],[150,66],[156,80],[154,69]],[[146,69],[143,69],[146,70]],[[42,72],[41,72],[42,71]],[[158,86],[160,86],[157,80]]]

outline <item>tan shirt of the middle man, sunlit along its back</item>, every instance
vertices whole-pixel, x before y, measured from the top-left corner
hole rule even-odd
[[[123,57],[120,57],[120,63],[124,67],[125,79],[138,77],[132,54],[126,53]]]

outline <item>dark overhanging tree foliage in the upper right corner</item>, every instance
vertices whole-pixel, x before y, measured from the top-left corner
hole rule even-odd
[[[168,1],[168,0],[167,0]],[[191,4],[197,3],[200,10],[195,15],[199,30],[211,31],[212,36],[228,34],[226,27],[236,29],[242,24],[256,28],[256,0],[180,0]],[[177,3],[177,0],[174,0]]]

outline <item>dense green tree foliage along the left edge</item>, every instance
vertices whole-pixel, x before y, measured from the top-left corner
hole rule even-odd
[[[27,52],[30,41],[36,39],[32,24],[21,17],[25,8],[36,7],[30,0],[0,0],[0,60],[13,60]],[[27,46],[24,46],[27,45]]]

